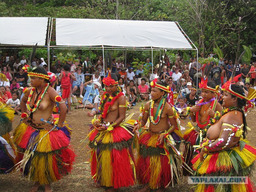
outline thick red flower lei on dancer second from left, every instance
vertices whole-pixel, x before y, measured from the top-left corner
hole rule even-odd
[[[100,100],[99,106],[99,111],[103,118],[106,118],[108,108],[114,103],[115,100],[117,100],[122,95],[124,94],[121,92],[120,87],[118,87],[117,91],[112,93],[111,95],[107,94],[107,92],[104,92],[104,94],[101,96],[102,99]]]

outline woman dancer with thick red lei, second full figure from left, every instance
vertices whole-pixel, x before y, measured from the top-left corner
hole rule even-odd
[[[97,187],[109,187],[107,192],[136,182],[132,153],[134,120],[125,117],[127,103],[118,78],[118,74],[111,73],[111,77],[102,80],[106,92],[101,97],[101,115],[92,120],[89,134],[91,173]]]

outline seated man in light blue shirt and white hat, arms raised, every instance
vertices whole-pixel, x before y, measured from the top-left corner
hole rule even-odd
[[[92,85],[88,85],[89,83],[93,83]],[[76,109],[80,109],[80,108],[88,108],[88,109],[92,109],[94,108],[94,98],[96,97],[96,95],[99,95],[99,91],[98,88],[101,88],[101,85],[99,82],[93,82],[93,80],[90,80],[88,82],[84,83],[84,88],[86,90],[85,94],[84,94],[84,98],[82,100],[82,104],[76,106]]]

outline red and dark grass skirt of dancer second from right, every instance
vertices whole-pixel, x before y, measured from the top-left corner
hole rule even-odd
[[[206,136],[206,131],[200,129],[198,126],[192,126],[191,123],[188,123],[190,127],[186,132],[184,132],[184,152],[183,156],[185,159],[186,164],[191,167],[191,160],[194,155],[198,154],[198,152],[193,148],[193,145],[199,145],[200,141],[202,142],[203,138]],[[189,172],[184,170],[184,175],[188,175]]]

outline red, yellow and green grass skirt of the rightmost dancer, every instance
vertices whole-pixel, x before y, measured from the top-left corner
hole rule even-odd
[[[256,160],[256,148],[250,144],[240,148],[240,145],[207,155],[202,162],[200,162],[200,154],[196,155],[191,161],[192,168],[196,171],[195,176],[250,176]],[[195,187],[195,192],[254,191],[254,184],[249,178],[248,184],[198,184]]]

